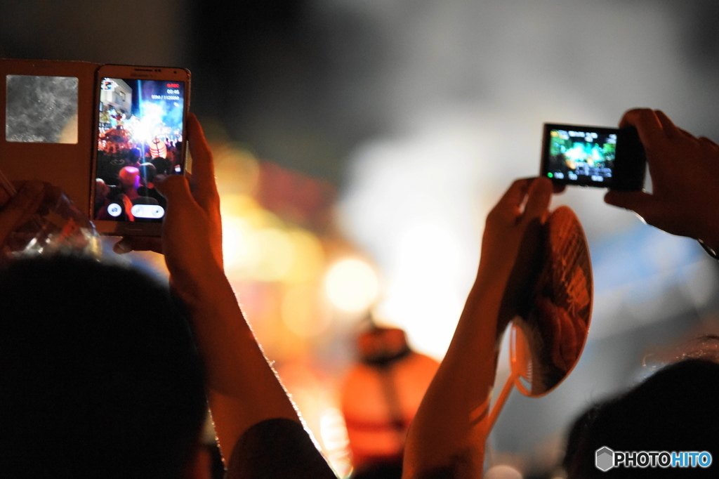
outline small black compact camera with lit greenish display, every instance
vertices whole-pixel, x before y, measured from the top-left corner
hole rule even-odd
[[[646,156],[636,129],[544,124],[540,175],[562,185],[638,191]]]

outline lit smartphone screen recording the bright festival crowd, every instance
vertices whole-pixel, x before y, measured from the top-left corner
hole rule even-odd
[[[161,222],[155,175],[182,173],[185,83],[101,78],[93,218]]]

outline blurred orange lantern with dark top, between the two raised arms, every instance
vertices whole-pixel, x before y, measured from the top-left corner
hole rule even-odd
[[[342,414],[356,470],[401,465],[409,424],[439,362],[414,352],[405,332],[370,327],[342,386]]]

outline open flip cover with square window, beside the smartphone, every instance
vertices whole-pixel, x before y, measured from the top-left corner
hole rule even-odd
[[[93,84],[99,63],[0,59],[0,170],[60,187],[90,213]],[[76,105],[73,105],[76,90]]]

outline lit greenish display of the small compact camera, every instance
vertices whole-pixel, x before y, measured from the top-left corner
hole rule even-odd
[[[549,129],[545,172],[569,183],[609,186],[617,154],[617,133],[587,129]]]

